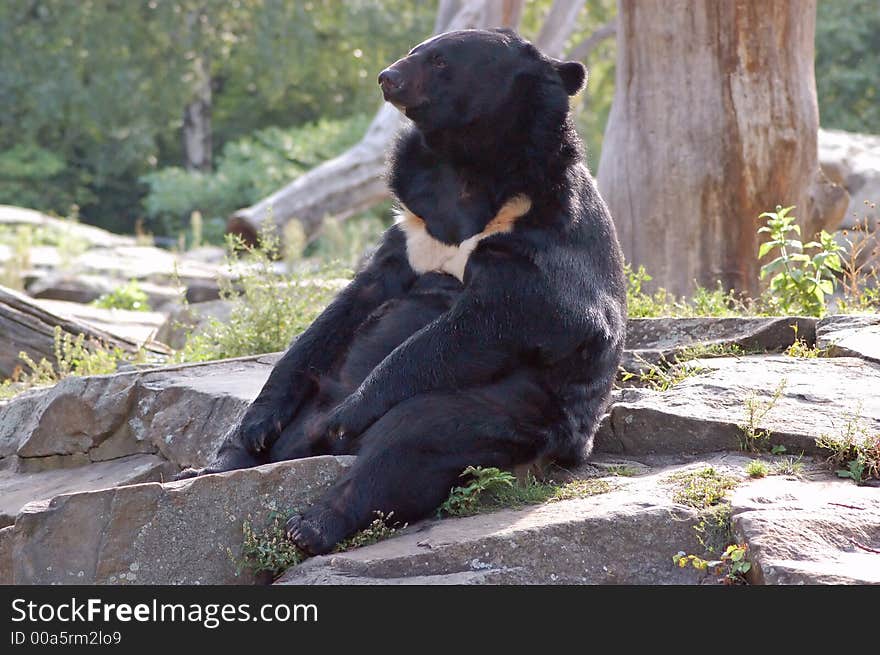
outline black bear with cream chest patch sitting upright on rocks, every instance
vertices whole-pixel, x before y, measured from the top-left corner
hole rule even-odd
[[[582,161],[576,62],[510,30],[432,38],[382,71],[411,121],[400,219],[275,365],[216,461],[357,454],[288,534],[326,553],[375,511],[429,514],[467,466],[587,456],[626,325],[622,256]]]

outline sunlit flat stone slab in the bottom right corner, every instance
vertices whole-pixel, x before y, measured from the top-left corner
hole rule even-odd
[[[770,477],[732,498],[757,584],[880,584],[880,490]]]

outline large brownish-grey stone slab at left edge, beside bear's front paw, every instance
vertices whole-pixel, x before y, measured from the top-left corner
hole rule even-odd
[[[277,356],[70,377],[0,405],[0,458],[160,453],[204,466]]]

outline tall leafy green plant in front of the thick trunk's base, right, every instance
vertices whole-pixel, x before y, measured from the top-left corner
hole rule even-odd
[[[758,259],[771,251],[777,256],[761,267],[761,279],[770,278],[767,303],[785,314],[822,316],[826,310],[826,296],[834,292],[836,273],[843,273],[840,246],[825,230],[819,241],[801,242],[801,228],[790,214],[794,207],[776,206],[775,212],[764,212],[760,218],[767,225],[758,233],[769,234],[769,240],[758,248]],[[805,251],[814,250],[810,256]]]

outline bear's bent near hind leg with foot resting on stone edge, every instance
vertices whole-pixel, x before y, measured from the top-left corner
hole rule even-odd
[[[540,405],[504,395],[426,394],[396,406],[360,437],[351,470],[288,521],[288,535],[310,554],[327,553],[367,527],[377,511],[393,513],[393,523],[429,515],[462,483],[468,466],[511,468],[535,460],[547,441],[538,427]]]

